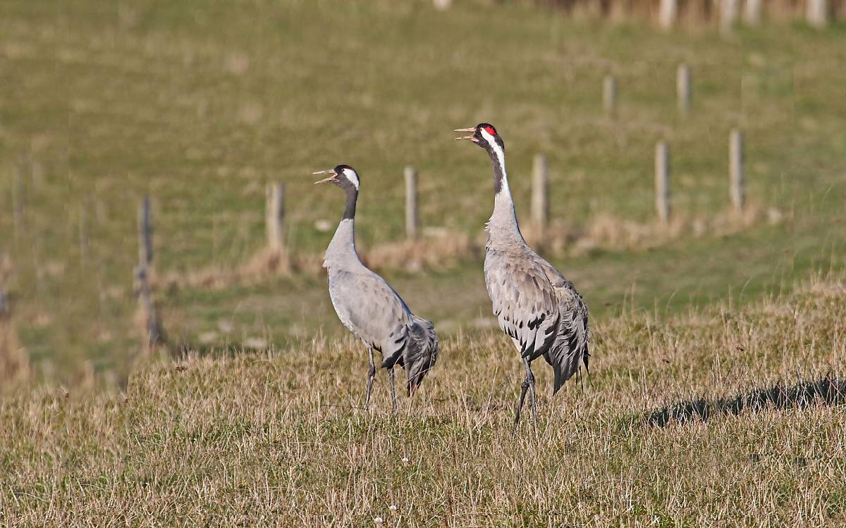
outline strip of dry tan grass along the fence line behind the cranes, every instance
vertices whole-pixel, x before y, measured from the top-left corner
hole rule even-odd
[[[722,237],[760,225],[763,221],[775,224],[782,221],[782,213],[770,208],[763,214],[761,205],[749,204],[743,212],[720,211],[710,216],[673,215],[664,224],[658,220],[638,222],[617,215],[598,214],[584,226],[573,226],[553,220],[541,235],[530,226],[524,235],[530,246],[551,256],[580,256],[593,250],[628,251],[656,248],[684,237]],[[431,227],[416,240],[387,242],[372,248],[359,248],[360,258],[377,271],[402,269],[420,272],[449,269],[468,261],[481,259],[485,251],[486,233],[468,237],[459,231]],[[322,253],[291,255],[262,248],[246,263],[234,269],[212,266],[186,274],[170,272],[162,280],[152,278],[152,284],[165,289],[208,288],[222,290],[231,286],[255,284],[268,276],[320,275]]]

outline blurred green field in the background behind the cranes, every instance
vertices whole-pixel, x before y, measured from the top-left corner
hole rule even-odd
[[[317,226],[334,222],[341,203],[313,188],[309,173],[340,162],[362,175],[363,248],[402,239],[408,164],[420,169],[424,226],[476,240],[491,208],[490,169],[450,131],[482,120],[508,144],[521,216],[531,158],[549,157],[553,221],[576,240],[546,254],[598,320],[624,308],[672,314],[754,301],[843,267],[843,35],[842,24],[659,34],[512,3],[459,3],[442,14],[424,0],[8,0],[0,253],[14,265],[7,287],[19,338],[36,372],[54,381],[72,383],[80,365],[125,372],[136,342],[135,209],[145,193],[164,278],[249,262],[263,243],[264,185],[277,180],[288,184],[292,252],[320,253],[331,232]],[[686,119],[673,95],[681,62],[694,78]],[[602,114],[608,73],[620,86],[616,119]],[[741,228],[727,220],[736,126],[757,212]],[[656,231],[658,139],[673,153],[679,234],[628,243],[627,230]],[[479,262],[437,268],[386,273],[445,333],[483,323]],[[159,291],[165,324],[196,346],[333,335],[320,273],[311,266],[219,288],[173,280]]]

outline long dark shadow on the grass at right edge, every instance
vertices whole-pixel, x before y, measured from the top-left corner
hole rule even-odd
[[[767,389],[751,390],[733,398],[680,401],[645,416],[645,424],[665,427],[670,423],[698,420],[706,422],[715,415],[737,415],[743,411],[766,409],[804,409],[807,406],[842,406],[846,404],[846,379],[828,374],[813,381],[792,385],[778,383]]]

